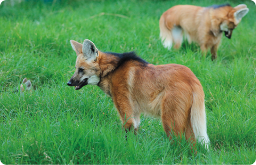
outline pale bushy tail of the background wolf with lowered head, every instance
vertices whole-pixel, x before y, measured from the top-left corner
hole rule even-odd
[[[162,40],[164,48],[172,48],[172,33],[171,30],[166,27],[164,16],[162,15],[159,20],[160,38]]]

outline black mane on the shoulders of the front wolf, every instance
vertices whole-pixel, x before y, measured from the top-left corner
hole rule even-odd
[[[148,64],[147,61],[143,60],[141,57],[137,56],[135,52],[126,52],[126,53],[112,53],[112,52],[105,52],[106,54],[112,54],[115,57],[119,58],[119,62],[117,64],[117,67],[123,65],[127,61],[137,61],[143,66],[146,66]]]

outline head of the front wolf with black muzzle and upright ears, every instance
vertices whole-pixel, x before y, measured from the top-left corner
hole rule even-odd
[[[100,66],[97,62],[98,49],[90,40],[84,40],[83,44],[74,40],[70,41],[76,52],[76,71],[67,83],[68,86],[76,86],[80,90],[83,86],[97,85],[100,82]]]

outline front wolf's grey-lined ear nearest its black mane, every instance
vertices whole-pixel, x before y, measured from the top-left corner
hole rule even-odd
[[[82,53],[84,54],[86,60],[93,61],[98,57],[98,49],[90,40],[84,40],[82,43]]]

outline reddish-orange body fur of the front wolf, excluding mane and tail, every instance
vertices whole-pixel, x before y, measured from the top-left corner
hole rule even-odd
[[[100,52],[98,64],[102,73],[109,69],[106,66],[114,68],[114,65],[109,63],[110,61],[113,62],[114,59],[114,56],[109,57]],[[190,111],[192,92],[198,92],[199,95],[204,97],[203,88],[199,80],[188,67],[182,65],[154,66],[149,64],[146,67],[139,67],[137,63],[134,61],[127,62],[119,67],[118,70],[101,77],[101,82],[98,84],[106,94],[112,96],[121,120],[125,123],[124,127],[131,129],[133,122],[131,118],[127,119],[133,117],[134,108],[139,107],[139,105],[134,105],[137,104],[138,100],[145,102],[147,104],[146,108],[150,109],[150,103],[156,99],[157,95],[164,92],[162,97],[158,99],[158,106],[162,109],[159,115],[167,136],[171,137],[170,128],[174,126],[173,130],[176,134],[185,133],[187,139],[192,137],[191,140],[194,141]],[[133,86],[129,86],[127,83],[129,79],[128,73],[131,69],[134,69],[135,73]],[[131,103],[129,98],[133,99],[134,103]]]

